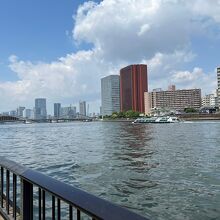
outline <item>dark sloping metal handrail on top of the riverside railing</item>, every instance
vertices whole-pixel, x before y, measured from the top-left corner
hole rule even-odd
[[[126,208],[89,194],[76,187],[46,176],[38,171],[26,168],[16,162],[0,157],[0,166],[15,173],[27,182],[36,185],[66,203],[98,219],[105,220],[147,220]]]

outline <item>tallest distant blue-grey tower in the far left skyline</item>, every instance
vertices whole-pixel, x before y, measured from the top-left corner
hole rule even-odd
[[[47,119],[47,106],[45,98],[35,99],[34,118],[37,120]]]

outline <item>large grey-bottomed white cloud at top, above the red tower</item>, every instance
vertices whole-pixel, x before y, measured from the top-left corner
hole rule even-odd
[[[162,0],[85,3],[75,21],[74,39],[93,43],[111,61],[139,61],[157,52],[185,48],[191,31],[189,10]]]

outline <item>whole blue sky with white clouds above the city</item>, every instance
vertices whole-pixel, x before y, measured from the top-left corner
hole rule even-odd
[[[100,79],[148,66],[149,90],[217,87],[220,0],[0,1],[0,112],[101,105]]]

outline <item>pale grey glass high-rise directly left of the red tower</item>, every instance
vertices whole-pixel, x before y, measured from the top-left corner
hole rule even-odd
[[[120,77],[110,75],[101,79],[102,115],[120,112]]]

